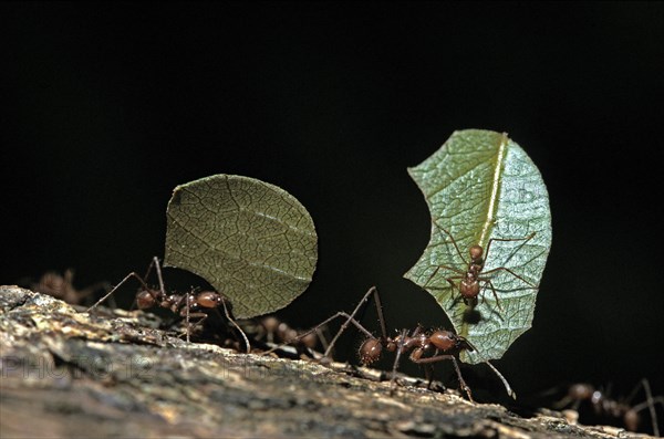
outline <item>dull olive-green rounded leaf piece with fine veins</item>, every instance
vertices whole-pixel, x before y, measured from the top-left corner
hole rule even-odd
[[[164,263],[203,276],[247,318],[282,309],[311,282],[313,221],[286,190],[215,175],[175,188]]]

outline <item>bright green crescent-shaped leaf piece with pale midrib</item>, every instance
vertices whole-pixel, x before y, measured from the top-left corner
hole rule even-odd
[[[531,326],[551,248],[542,177],[506,134],[481,129],[455,132],[408,173],[428,205],[432,234],[405,278],[428,291],[477,348],[479,354],[461,353],[464,362],[500,358]],[[464,300],[459,288],[473,245],[484,250],[475,302]]]

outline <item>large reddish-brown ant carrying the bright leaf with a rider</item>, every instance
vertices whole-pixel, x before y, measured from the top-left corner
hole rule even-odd
[[[361,307],[366,302],[369,302],[371,296],[373,296],[373,299],[374,299],[374,303],[375,303],[376,311],[378,314],[378,321],[381,324],[381,334],[382,335],[380,337],[374,336],[369,330],[366,330],[355,318],[355,315],[359,313]],[[403,354],[409,352],[411,355],[408,356],[408,358],[413,363],[425,366],[425,373],[426,373],[427,379],[428,379],[427,388],[430,388],[430,385],[433,381],[433,376],[432,376],[433,364],[443,362],[443,360],[452,360],[455,372],[456,372],[456,375],[459,380],[460,388],[466,393],[466,395],[468,396],[468,399],[470,401],[473,401],[473,394],[470,391],[470,388],[464,380],[464,377],[461,376],[461,370],[460,370],[458,362],[457,362],[457,356],[464,349],[469,351],[469,352],[477,352],[475,346],[473,346],[473,344],[470,344],[470,342],[467,341],[465,337],[457,335],[450,331],[445,331],[445,330],[425,331],[419,325],[417,325],[417,327],[415,327],[415,330],[413,330],[413,331],[403,330],[395,337],[388,336],[387,331],[385,328],[385,318],[383,316],[381,297],[378,295],[378,290],[375,286],[372,286],[371,289],[369,289],[369,291],[364,294],[364,296],[362,297],[362,300],[360,301],[357,306],[355,306],[355,309],[353,310],[353,312],[351,314],[347,314],[343,311],[338,312],[336,314],[334,314],[331,317],[321,322],[319,325],[300,334],[297,337],[289,339],[288,342],[292,343],[299,338],[302,338],[302,337],[307,336],[308,334],[311,334],[311,333],[318,331],[321,326],[326,325],[331,321],[339,318],[339,317],[343,317],[345,321],[341,325],[336,335],[332,338],[332,341],[328,345],[328,348],[325,349],[325,352],[322,355],[321,362],[325,363],[325,362],[330,360],[330,353],[332,352],[334,344],[336,343],[339,337],[343,334],[343,332],[352,324],[362,334],[364,334],[366,336],[366,339],[362,343],[362,345],[360,346],[360,349],[359,349],[360,360],[362,362],[363,365],[369,365],[369,364],[377,360],[381,357],[383,349],[395,353],[395,359],[394,359],[394,364],[392,366],[392,375],[391,375],[391,383],[392,383],[393,390],[395,388],[396,372],[398,368],[398,363],[400,363],[401,356]],[[266,354],[271,351],[272,349],[266,352]],[[427,356],[427,354],[432,354],[432,355]],[[511,396],[512,398],[516,398],[516,395],[512,391],[509,384],[507,383],[507,379],[505,379],[505,377],[498,372],[498,369],[496,369],[496,367],[494,367],[494,365],[491,365],[488,360],[484,360],[484,363],[486,363],[491,368],[491,370],[494,370],[494,373],[500,378],[500,380],[502,381],[502,385],[505,386],[505,388],[507,390],[507,394],[509,396]]]

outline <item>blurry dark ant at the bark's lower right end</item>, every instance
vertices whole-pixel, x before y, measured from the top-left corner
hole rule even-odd
[[[630,405],[630,401],[636,396],[636,393],[641,387],[643,387],[643,391],[645,393],[645,401],[634,406]],[[639,425],[641,424],[640,411],[647,408],[652,420],[653,433],[654,436],[660,436],[655,404],[660,404],[664,407],[664,397],[657,396],[653,398],[647,379],[642,379],[636,387],[634,387],[630,396],[622,400],[609,397],[608,391],[596,389],[590,384],[573,384],[569,387],[566,397],[556,404],[556,408],[561,409],[569,407],[572,410],[578,410],[583,401],[590,401],[596,416],[622,419],[625,428],[630,431],[636,431],[639,429]]]

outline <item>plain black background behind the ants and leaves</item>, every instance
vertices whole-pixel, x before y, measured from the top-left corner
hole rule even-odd
[[[239,174],[315,221],[291,324],[376,284],[391,328],[444,325],[402,279],[429,233],[406,167],[455,129],[505,130],[548,185],[553,248],[496,364],[520,395],[663,394],[663,4],[2,3],[0,282],[143,272],[173,188]]]

